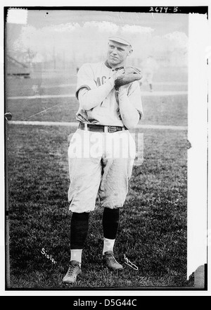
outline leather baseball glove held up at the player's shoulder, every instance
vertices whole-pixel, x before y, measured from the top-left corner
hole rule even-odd
[[[122,70],[122,69],[120,69]],[[138,68],[126,67],[122,75],[119,75],[115,80],[115,89],[118,89],[120,86],[127,85],[131,82],[141,80],[141,71]]]

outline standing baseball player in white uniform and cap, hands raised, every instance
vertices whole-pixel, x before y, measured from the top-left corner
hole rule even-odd
[[[130,42],[110,37],[106,61],[86,63],[77,73],[79,127],[68,148],[70,264],[63,283],[75,283],[82,273],[89,213],[95,209],[97,196],[103,207],[103,262],[111,271],[123,268],[113,249],[136,154],[129,129],[143,115],[139,82],[133,81],[136,72],[126,74],[131,54]],[[131,76],[132,82],[125,82],[124,78]],[[126,156],[122,154],[125,150]]]

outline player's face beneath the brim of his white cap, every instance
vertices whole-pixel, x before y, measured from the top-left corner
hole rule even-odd
[[[131,46],[127,46],[118,42],[108,42],[108,63],[112,67],[124,64],[127,56],[132,54]]]

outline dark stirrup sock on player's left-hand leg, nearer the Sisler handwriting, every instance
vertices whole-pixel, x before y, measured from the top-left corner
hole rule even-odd
[[[89,229],[89,213],[72,213],[70,223],[70,249],[83,249]]]

